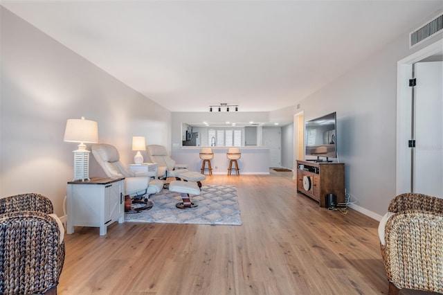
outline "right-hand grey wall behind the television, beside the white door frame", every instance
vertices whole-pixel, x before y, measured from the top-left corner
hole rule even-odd
[[[405,32],[300,102],[305,121],[337,112],[347,193],[358,199],[355,208],[374,218],[386,213],[396,195],[397,61],[435,40],[410,50]]]

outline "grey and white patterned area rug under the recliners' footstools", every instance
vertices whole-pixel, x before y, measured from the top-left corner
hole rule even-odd
[[[194,208],[177,208],[181,195],[167,189],[151,195],[150,201],[150,210],[125,213],[125,222],[242,225],[235,186],[202,186],[199,196],[191,195],[199,205]]]

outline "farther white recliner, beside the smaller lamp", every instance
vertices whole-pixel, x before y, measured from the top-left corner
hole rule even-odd
[[[181,173],[188,172],[188,165],[175,163],[163,145],[146,145],[146,152],[151,162],[157,163],[159,167],[157,177],[160,179],[168,177],[180,178],[179,175]]]

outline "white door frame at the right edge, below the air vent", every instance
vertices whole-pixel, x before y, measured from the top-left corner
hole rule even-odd
[[[413,125],[413,87],[409,87],[409,80],[413,73],[413,64],[430,60],[432,57],[442,58],[443,39],[423,48],[416,53],[397,62],[397,195],[408,193],[413,190],[411,186],[415,167],[413,166],[413,153],[408,142],[411,138],[411,126]],[[442,116],[443,110],[440,110]],[[440,152],[442,150],[440,149]],[[442,166],[443,163],[432,163],[432,166]],[[441,182],[441,181],[440,181]]]

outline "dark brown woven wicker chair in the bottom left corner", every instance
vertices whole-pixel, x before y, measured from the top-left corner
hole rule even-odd
[[[0,294],[57,294],[64,242],[51,213],[43,195],[0,199]]]

